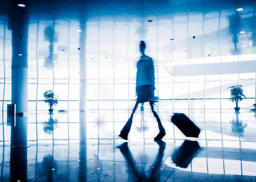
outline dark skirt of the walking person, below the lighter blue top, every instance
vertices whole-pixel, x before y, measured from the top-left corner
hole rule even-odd
[[[140,87],[137,87],[136,89],[137,92],[137,101],[139,103],[144,103],[144,102],[157,102],[154,98],[154,92],[152,93],[151,91],[151,85],[143,85]]]

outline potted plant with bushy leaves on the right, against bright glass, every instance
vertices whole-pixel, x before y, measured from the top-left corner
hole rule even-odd
[[[243,85],[233,85],[228,87],[230,89],[230,100],[236,102],[235,111],[239,111],[238,102],[241,102],[246,96],[243,94]]]

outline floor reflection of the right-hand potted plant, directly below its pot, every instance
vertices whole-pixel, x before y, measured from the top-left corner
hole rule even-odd
[[[243,137],[244,129],[247,127],[247,123],[243,123],[241,119],[239,119],[239,114],[239,112],[236,112],[236,119],[230,121],[231,132],[235,136]]]

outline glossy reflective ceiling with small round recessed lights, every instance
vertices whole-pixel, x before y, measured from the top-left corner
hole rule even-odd
[[[256,0],[8,0],[0,5],[0,62],[5,59],[7,68],[10,17],[22,17],[24,9],[29,16],[21,22],[29,26],[23,32],[29,37],[29,66],[36,67],[39,60],[39,69],[47,68],[49,54],[54,62],[69,60],[74,62],[70,68],[78,68],[79,36],[91,63],[136,61],[139,40],[146,41],[147,54],[161,63],[255,54]]]

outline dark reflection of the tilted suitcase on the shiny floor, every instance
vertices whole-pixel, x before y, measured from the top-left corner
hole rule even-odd
[[[185,140],[183,144],[172,153],[172,161],[180,168],[187,168],[195,153],[200,149],[197,141]]]

